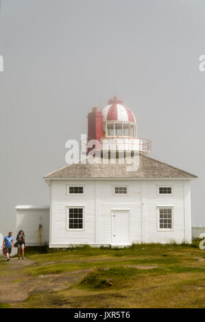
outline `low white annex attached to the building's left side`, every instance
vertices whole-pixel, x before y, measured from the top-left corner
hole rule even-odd
[[[16,234],[19,230],[27,246],[49,243],[49,206],[16,206]]]

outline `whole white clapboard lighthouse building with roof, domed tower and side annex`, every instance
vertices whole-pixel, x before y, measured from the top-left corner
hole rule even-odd
[[[16,207],[27,245],[191,243],[196,176],[149,158],[151,141],[138,138],[134,115],[117,97],[88,114],[84,147],[82,161],[45,175],[49,207]]]

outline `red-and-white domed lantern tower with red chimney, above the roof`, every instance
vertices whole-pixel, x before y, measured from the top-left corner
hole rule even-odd
[[[88,113],[88,140],[86,151],[114,152],[117,156],[123,152],[143,154],[152,151],[152,141],[138,138],[137,123],[133,112],[127,108],[121,99],[114,96],[108,105],[99,111],[95,106]],[[114,154],[112,153],[112,156]]]

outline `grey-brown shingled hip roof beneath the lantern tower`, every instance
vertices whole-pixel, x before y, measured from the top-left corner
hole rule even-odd
[[[182,178],[194,179],[186,171],[182,171],[174,166],[154,160],[147,156],[139,156],[139,168],[137,171],[127,171],[128,164],[69,164],[62,169],[53,171],[45,175],[45,179],[60,178]]]

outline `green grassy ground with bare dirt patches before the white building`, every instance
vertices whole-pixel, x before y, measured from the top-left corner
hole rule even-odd
[[[0,308],[205,307],[205,252],[197,242],[30,248],[26,257],[0,260],[0,302],[2,285],[11,296],[23,290],[22,299],[8,294]]]

